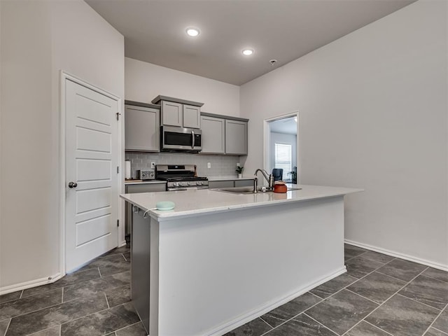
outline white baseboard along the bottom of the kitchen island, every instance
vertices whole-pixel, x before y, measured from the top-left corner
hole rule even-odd
[[[335,278],[336,276],[339,276],[343,273],[347,272],[346,267],[342,267],[342,269],[339,269],[337,272],[334,272],[330,275],[325,275],[323,278],[319,279],[318,281],[314,281],[312,283],[308,283],[305,286],[302,286],[301,288],[297,288],[293,290],[292,293],[289,293],[288,295],[280,298],[276,298],[274,301],[267,302],[267,304],[263,304],[260,307],[256,307],[252,309],[251,311],[248,311],[244,315],[240,315],[237,318],[234,318],[232,321],[229,321],[228,323],[225,323],[224,325],[220,325],[217,328],[214,328],[213,330],[209,330],[209,332],[206,332],[205,335],[207,336],[218,336],[218,335],[224,335],[226,332],[229,332],[231,330],[234,330],[235,328],[238,328],[241,325],[246,324],[249,321],[252,321],[254,318],[260,317],[263,314],[266,314],[267,312],[271,311],[272,309],[276,307],[280,307],[282,304],[285,304],[286,302],[289,302],[290,300],[295,299],[295,297],[299,297],[300,295],[307,293],[307,291],[321,285],[322,283],[325,283],[327,281],[330,281],[331,279]]]

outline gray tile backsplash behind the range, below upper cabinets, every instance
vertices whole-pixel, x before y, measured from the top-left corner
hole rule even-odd
[[[197,165],[197,175],[216,177],[237,177],[237,162],[239,156],[232,155],[206,155],[192,153],[142,153],[126,152],[125,160],[131,162],[131,177],[136,178],[136,171],[139,169],[150,169],[151,162],[156,165]],[[210,162],[211,167],[207,168]]]

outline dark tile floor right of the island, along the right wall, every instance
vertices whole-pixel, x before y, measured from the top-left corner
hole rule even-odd
[[[225,336],[448,336],[448,272],[345,246],[347,272]]]

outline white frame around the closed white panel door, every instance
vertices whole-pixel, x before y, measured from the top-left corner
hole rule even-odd
[[[123,183],[122,177],[123,177],[123,131],[122,131],[122,120],[124,118],[123,113],[123,101],[120,97],[116,96],[115,94],[112,94],[110,92],[107,92],[95,85],[92,85],[90,83],[87,83],[85,80],[82,80],[76,76],[71,75],[70,73],[67,73],[63,70],[60,71],[59,76],[59,193],[61,197],[59,197],[59,246],[61,250],[59,251],[59,269],[61,270],[61,277],[66,274],[66,268],[65,268],[65,258],[66,258],[66,244],[65,244],[65,234],[66,234],[66,109],[65,109],[65,103],[66,103],[66,80],[71,80],[73,83],[76,83],[78,85],[87,87],[87,89],[93,90],[95,92],[99,92],[100,94],[104,94],[106,97],[109,97],[113,100],[115,100],[118,103],[118,113],[120,116],[120,119],[118,120],[118,127],[117,127],[117,139],[118,139],[118,165],[120,167],[119,173],[117,174],[117,190],[123,190]],[[118,197],[118,195],[117,195]],[[120,206],[120,202],[117,200],[117,215],[118,218],[120,218],[120,226],[117,227],[118,235],[117,235],[117,246],[120,246],[120,230],[123,228],[123,211],[122,207]],[[55,279],[56,280],[56,279]]]

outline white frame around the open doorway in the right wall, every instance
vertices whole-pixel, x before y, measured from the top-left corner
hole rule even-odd
[[[302,174],[300,172],[302,171],[301,167],[301,160],[300,160],[300,111],[293,111],[290,113],[282,114],[280,116],[275,116],[272,118],[267,118],[263,121],[263,168],[267,169],[269,167],[269,159],[270,159],[270,142],[271,142],[271,132],[269,123],[272,123],[272,121],[291,118],[291,117],[297,117],[297,144],[295,146],[296,153],[295,158],[297,159],[296,165],[297,165],[297,184],[300,184],[300,181],[302,179]]]

